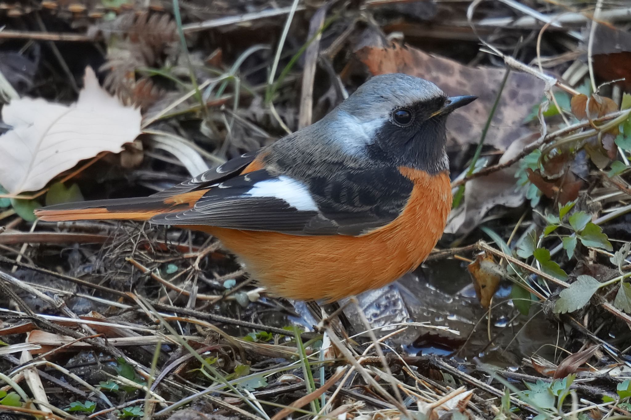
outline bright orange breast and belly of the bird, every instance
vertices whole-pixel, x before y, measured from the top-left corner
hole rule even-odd
[[[451,208],[449,176],[401,168],[415,186],[405,210],[360,237],[292,236],[195,226],[218,237],[269,292],[300,300],[336,300],[383,287],[427,258]]]

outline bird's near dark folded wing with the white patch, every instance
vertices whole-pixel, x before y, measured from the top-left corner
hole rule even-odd
[[[215,184],[193,208],[151,222],[358,236],[396,219],[412,188],[397,169],[340,167],[308,181],[261,169]]]

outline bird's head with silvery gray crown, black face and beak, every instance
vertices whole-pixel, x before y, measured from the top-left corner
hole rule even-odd
[[[449,169],[447,115],[474,99],[449,98],[432,82],[407,74],[382,74],[365,82],[324,120],[348,153],[437,174]]]

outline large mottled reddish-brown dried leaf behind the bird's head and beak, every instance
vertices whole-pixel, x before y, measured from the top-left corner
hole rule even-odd
[[[447,120],[447,139],[451,145],[477,144],[480,141],[482,128],[504,77],[504,69],[468,67],[399,45],[364,45],[355,54],[374,75],[401,72],[432,81],[450,95],[477,95],[478,100],[454,111]],[[486,144],[506,150],[514,140],[527,135],[529,129],[522,122],[533,106],[540,103],[543,88],[543,81],[536,77],[512,72],[502,91]]]

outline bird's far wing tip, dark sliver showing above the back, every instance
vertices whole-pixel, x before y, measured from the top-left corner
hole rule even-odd
[[[201,188],[208,188],[208,186],[212,184],[219,183],[225,179],[235,176],[235,174],[239,174],[246,166],[256,159],[259,152],[261,152],[260,149],[242,154],[239,157],[230,159],[230,161],[221,164],[215,169],[208,169],[208,171],[203,172],[188,181],[174,185],[167,188],[167,190],[159,191],[151,196],[170,197],[182,193],[188,193],[189,191],[199,190]]]

